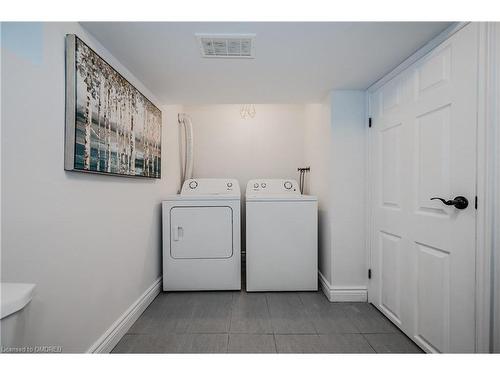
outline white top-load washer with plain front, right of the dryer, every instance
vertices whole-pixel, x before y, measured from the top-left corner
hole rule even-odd
[[[248,291],[318,290],[318,201],[297,181],[248,182],[246,278]]]

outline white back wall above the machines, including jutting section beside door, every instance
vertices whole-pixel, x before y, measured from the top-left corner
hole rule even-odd
[[[319,268],[337,299],[346,290],[366,298],[364,100],[363,91],[333,91],[318,104],[256,105],[253,119],[241,119],[240,105],[184,107],[195,177],[234,177],[244,192],[249,179],[297,179],[297,167],[311,166],[306,193],[319,199]]]

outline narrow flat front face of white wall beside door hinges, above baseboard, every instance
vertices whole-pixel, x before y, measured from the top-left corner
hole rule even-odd
[[[332,93],[332,238],[335,288],[366,288],[365,93]]]

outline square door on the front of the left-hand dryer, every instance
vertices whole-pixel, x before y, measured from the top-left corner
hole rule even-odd
[[[173,207],[170,234],[172,258],[230,258],[233,210],[231,207]]]

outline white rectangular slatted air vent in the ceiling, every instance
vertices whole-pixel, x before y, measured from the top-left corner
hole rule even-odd
[[[203,57],[255,58],[255,34],[196,34]]]

